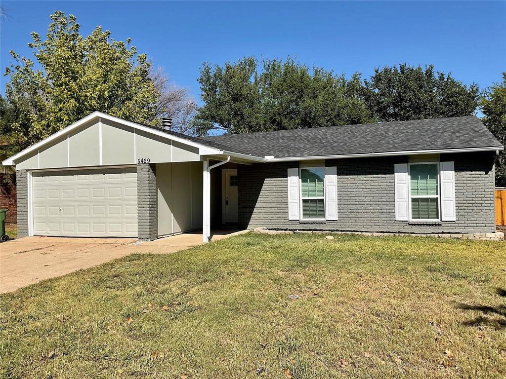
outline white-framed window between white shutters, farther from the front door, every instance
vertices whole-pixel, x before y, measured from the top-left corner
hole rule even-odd
[[[439,220],[439,164],[409,164],[412,220]]]

